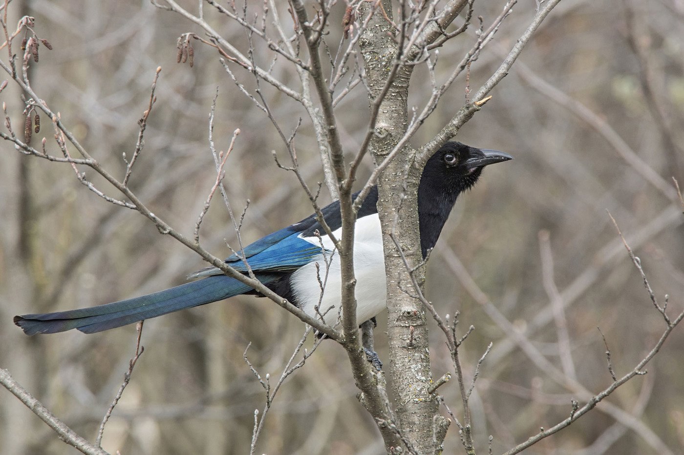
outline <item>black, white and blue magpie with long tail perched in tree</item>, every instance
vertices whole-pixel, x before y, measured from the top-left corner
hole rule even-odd
[[[437,242],[451,208],[460,193],[473,187],[482,169],[513,157],[498,150],[478,149],[463,143],[445,143],[425,164],[418,187],[418,214],[423,258]],[[354,194],[356,197],[358,193]],[[363,322],[384,309],[386,275],[382,234],[378,218],[378,188],[373,187],[358,209],[354,231],[356,318]],[[321,210],[336,238],[341,234],[339,201]],[[307,314],[316,317],[317,307],[328,324],[337,322],[341,300],[339,255],[315,215],[269,234],[248,245],[241,255],[233,254],[226,264],[241,273],[254,275],[268,288],[285,297]],[[326,278],[323,295],[319,279]],[[239,294],[259,292],[237,279],[210,267],[189,275],[195,279],[181,286],[132,299],[90,308],[47,314],[14,316],[14,323],[27,335],[78,329],[96,333],[180,309],[205,305]]]

